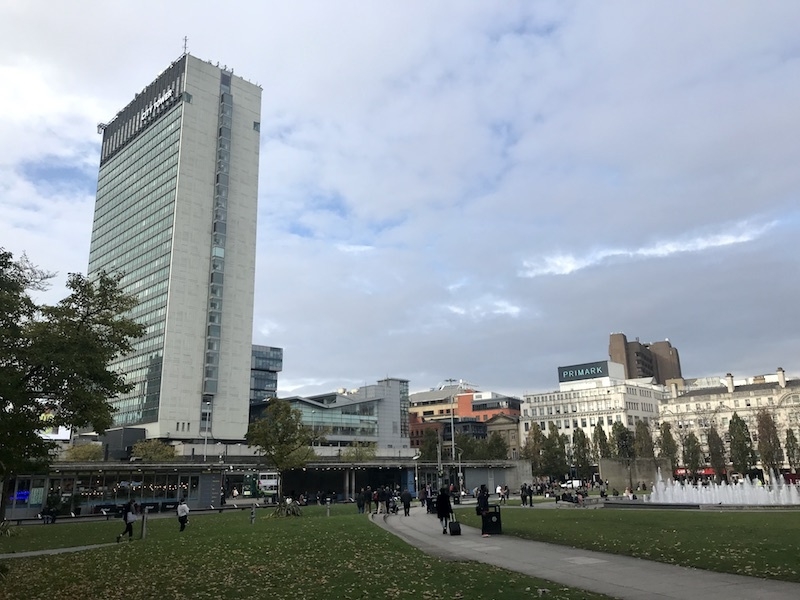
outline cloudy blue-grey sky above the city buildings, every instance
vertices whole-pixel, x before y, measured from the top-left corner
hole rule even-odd
[[[0,0],[0,247],[86,273],[101,136],[183,52],[263,88],[279,395],[520,396],[669,339],[800,376],[800,3]]]

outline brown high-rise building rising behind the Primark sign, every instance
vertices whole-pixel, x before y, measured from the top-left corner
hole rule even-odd
[[[608,357],[625,367],[626,379],[652,377],[666,385],[670,379],[681,378],[678,349],[669,340],[643,344],[639,338],[629,342],[624,333],[612,333],[608,338]]]

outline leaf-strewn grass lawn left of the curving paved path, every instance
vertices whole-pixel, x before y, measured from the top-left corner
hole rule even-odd
[[[300,518],[249,511],[150,519],[146,540],[76,553],[3,561],[0,598],[602,599],[484,564],[447,562],[381,529],[352,505],[308,507]],[[0,553],[113,542],[119,520],[17,528]],[[136,525],[138,534],[140,524]]]

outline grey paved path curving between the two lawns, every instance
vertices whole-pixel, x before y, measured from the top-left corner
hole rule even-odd
[[[551,505],[552,506],[552,505]],[[526,510],[505,508],[503,510]],[[547,510],[535,508],[534,510]],[[483,562],[533,577],[630,600],[797,600],[800,584],[726,575],[664,563],[579,550],[512,536],[481,537],[461,525],[460,536],[442,535],[435,515],[416,505],[411,516],[372,515],[375,523],[409,544],[449,560]]]

